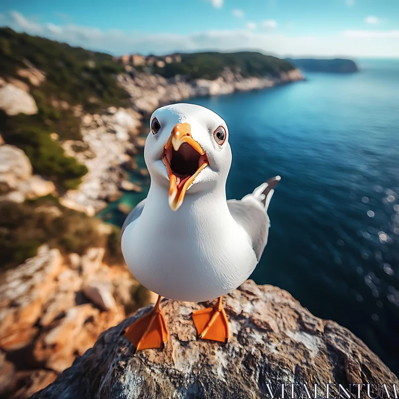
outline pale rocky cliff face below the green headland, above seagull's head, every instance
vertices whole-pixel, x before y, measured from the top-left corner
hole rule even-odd
[[[150,116],[159,106],[184,101],[190,97],[229,94],[235,91],[265,89],[276,84],[303,80],[297,69],[283,72],[278,78],[242,77],[226,68],[215,80],[195,79],[187,82],[179,75],[166,79],[160,75],[130,73],[118,75],[119,84],[130,94],[132,106],[145,116]]]

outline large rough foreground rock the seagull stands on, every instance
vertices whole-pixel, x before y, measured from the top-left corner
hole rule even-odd
[[[371,384],[376,397],[378,384],[389,389],[399,384],[352,333],[313,316],[279,288],[246,281],[225,297],[230,326],[226,345],[196,340],[190,313],[203,305],[163,300],[169,329],[166,348],[134,355],[121,333],[150,310],[141,309],[102,333],[92,349],[33,398],[255,399],[270,398],[268,387],[274,392],[277,384],[306,384],[310,389],[318,384],[323,397],[327,383],[347,388]],[[286,389],[289,398],[291,388]],[[366,389],[361,397],[367,397]]]

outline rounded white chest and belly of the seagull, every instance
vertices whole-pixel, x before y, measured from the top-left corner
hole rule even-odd
[[[153,205],[149,195],[143,213],[122,236],[128,267],[146,288],[200,302],[230,292],[249,277],[256,256],[227,206],[189,198],[176,212],[159,198]]]

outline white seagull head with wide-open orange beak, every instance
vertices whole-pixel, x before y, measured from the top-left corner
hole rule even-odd
[[[169,190],[169,205],[177,210],[185,197],[224,189],[231,165],[227,125],[213,111],[194,104],[157,109],[144,158],[151,180]]]

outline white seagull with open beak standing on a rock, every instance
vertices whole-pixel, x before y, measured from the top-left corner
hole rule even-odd
[[[225,121],[194,104],[157,109],[144,147],[148,196],[127,216],[121,247],[135,278],[157,293],[152,310],[124,336],[135,351],[164,348],[161,298],[216,304],[192,313],[199,339],[226,343],[222,296],[252,273],[267,243],[276,176],[242,200],[226,200],[231,149]]]

